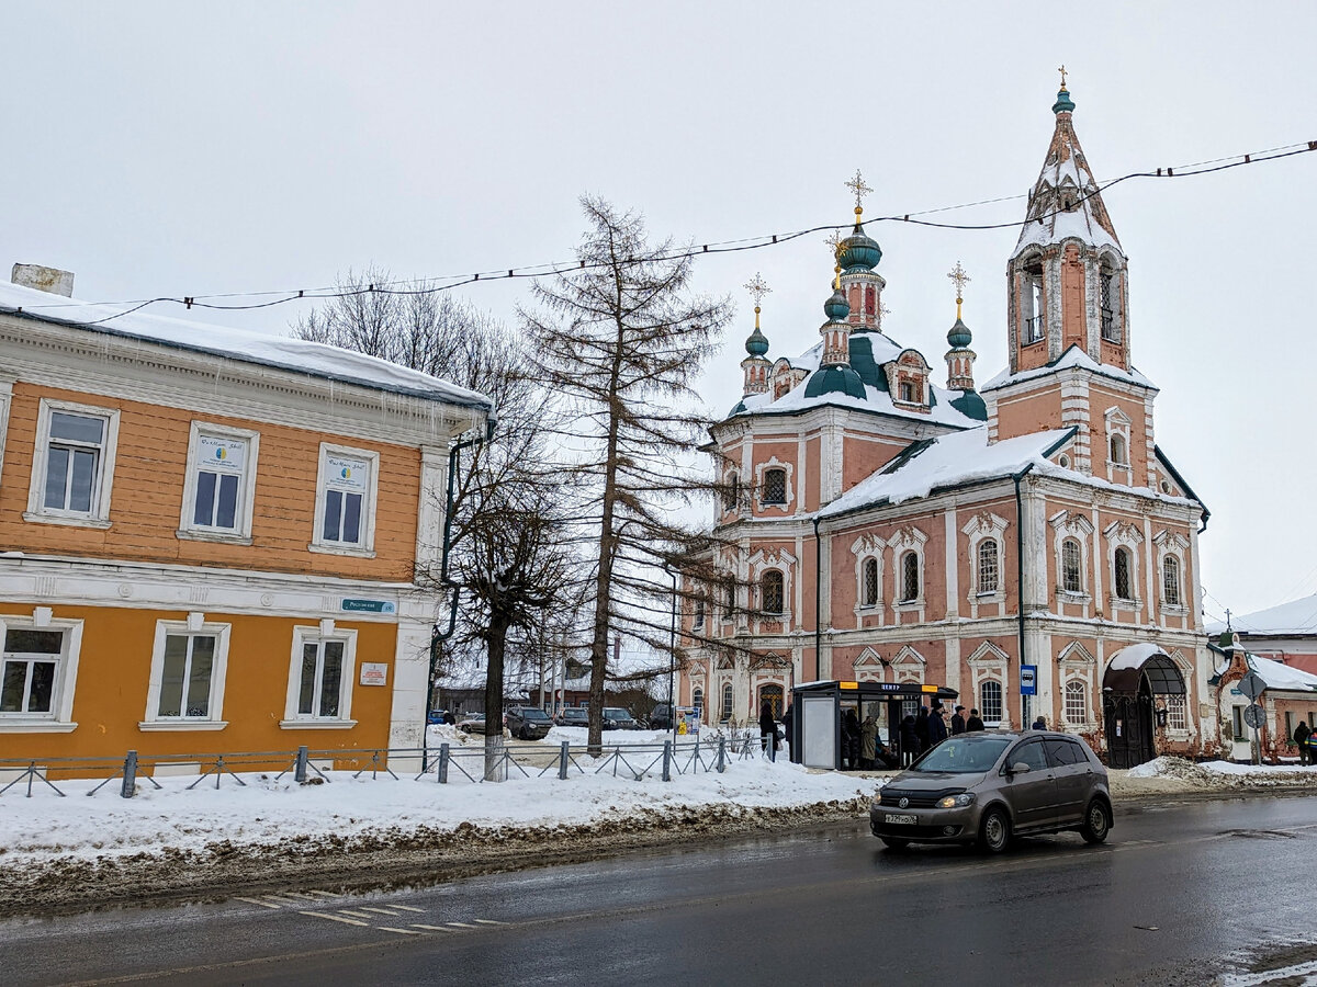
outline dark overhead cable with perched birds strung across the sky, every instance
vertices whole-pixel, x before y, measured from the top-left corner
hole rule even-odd
[[[981,199],[972,203],[961,203],[959,205],[946,205],[931,209],[907,212],[907,213],[892,213],[888,216],[876,216],[867,222],[905,222],[917,226],[928,226],[934,229],[959,229],[959,230],[994,230],[994,229],[1018,229],[1029,225],[1030,222],[1040,222],[1046,218],[1051,218],[1062,212],[1073,212],[1076,207],[1101,195],[1102,192],[1114,188],[1123,182],[1137,178],[1192,178],[1196,175],[1206,175],[1217,171],[1226,171],[1229,168],[1237,168],[1246,164],[1259,164],[1263,162],[1280,161],[1284,158],[1291,158],[1297,154],[1305,154],[1308,151],[1317,150],[1317,141],[1305,141],[1300,143],[1281,145],[1277,147],[1268,147],[1259,151],[1249,151],[1245,154],[1231,154],[1222,158],[1212,158],[1209,161],[1196,162],[1192,164],[1177,164],[1173,167],[1159,167],[1148,171],[1131,171],[1119,178],[1110,179],[1104,183],[1096,183],[1092,192],[1081,196],[1073,205],[1068,209],[1055,209],[1050,213],[1042,213],[1039,216],[1033,216],[1025,220],[1017,220],[1010,222],[994,222],[994,224],[955,224],[955,222],[935,222],[932,220],[921,220],[919,216],[930,216],[943,212],[955,212],[959,209],[971,209],[980,205],[990,205],[996,203],[1013,201],[1022,199],[1025,196],[1001,196],[996,199]],[[655,261],[677,261],[684,258],[702,257],[706,254],[731,254],[740,253],[745,250],[761,250],[764,247],[780,246],[782,243],[789,243],[801,237],[806,237],[814,233],[827,233],[834,230],[843,230],[849,228],[851,222],[840,224],[819,224],[806,229],[782,232],[782,233],[766,233],[753,237],[741,237],[738,240],[723,240],[714,241],[709,243],[702,243],[698,247],[691,245],[689,247],[668,251],[666,254],[660,254],[656,258],[647,258]],[[212,295],[184,295],[182,297],[174,296],[158,296],[153,299],[133,299],[130,301],[99,301],[99,303],[49,303],[43,305],[26,305],[18,308],[18,312],[24,311],[37,311],[37,309],[53,309],[53,308],[84,308],[87,305],[129,305],[129,308],[122,312],[117,312],[103,318],[97,318],[90,322],[83,322],[83,325],[99,325],[103,322],[112,321],[115,318],[121,318],[133,312],[138,312],[148,305],[154,305],[159,303],[173,303],[180,304],[186,309],[191,308],[204,308],[211,311],[225,311],[225,312],[241,312],[253,311],[261,308],[273,308],[275,305],[288,304],[291,301],[302,300],[324,300],[324,299],[342,299],[353,297],[357,295],[366,293],[389,293],[389,295],[435,295],[445,291],[452,291],[453,288],[460,288],[468,284],[477,284],[479,282],[490,280],[515,280],[515,279],[535,279],[547,278],[560,274],[579,272],[582,270],[593,270],[599,267],[611,266],[612,262],[586,262],[586,261],[556,261],[540,265],[525,265],[523,267],[508,267],[490,271],[478,271],[469,275],[437,275],[435,278],[425,279],[399,279],[391,282],[369,283],[366,287],[356,288],[338,288],[338,287],[320,287],[320,288],[298,288],[298,290],[283,290],[283,291],[236,291],[236,292],[220,292]],[[627,263],[626,261],[623,263]],[[446,284],[436,284],[435,282],[449,282]],[[420,286],[415,288],[407,288],[400,286]],[[249,304],[221,304],[221,299],[267,299],[265,301],[253,301]]]

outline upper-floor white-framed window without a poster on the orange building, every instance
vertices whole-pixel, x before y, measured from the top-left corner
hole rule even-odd
[[[108,528],[117,433],[117,411],[42,400],[24,519]]]

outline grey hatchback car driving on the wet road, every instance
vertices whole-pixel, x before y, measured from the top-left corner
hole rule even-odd
[[[950,737],[869,807],[869,828],[893,849],[979,844],[1001,853],[1011,836],[1063,829],[1100,844],[1112,821],[1106,769],[1083,740],[1050,730]]]

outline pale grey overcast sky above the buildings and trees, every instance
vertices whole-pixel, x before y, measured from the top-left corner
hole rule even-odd
[[[1317,139],[1312,3],[87,3],[4,24],[0,263],[71,270],[97,301],[560,261],[582,192],[697,243],[842,222],[856,168],[871,216],[1022,196],[1062,63],[1100,179]],[[1212,509],[1212,616],[1317,591],[1314,190],[1317,153],[1105,196],[1158,442]],[[940,379],[960,261],[993,376],[1015,232],[868,229],[889,334]],[[711,408],[740,393],[756,271],[769,355],[817,341],[822,241],[699,261],[739,305]],[[464,291],[511,320],[527,284]]]

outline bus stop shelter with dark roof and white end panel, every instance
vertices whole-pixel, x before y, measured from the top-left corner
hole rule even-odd
[[[792,690],[792,761],[806,767],[842,769],[842,721],[853,712],[873,716],[878,736],[901,754],[901,720],[928,703],[952,700],[946,686],[918,682],[806,682]]]

